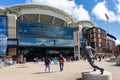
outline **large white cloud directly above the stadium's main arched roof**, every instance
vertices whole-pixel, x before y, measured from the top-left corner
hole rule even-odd
[[[90,20],[88,11],[82,5],[76,5],[75,0],[27,0],[26,3],[53,6],[67,12],[76,20]]]

